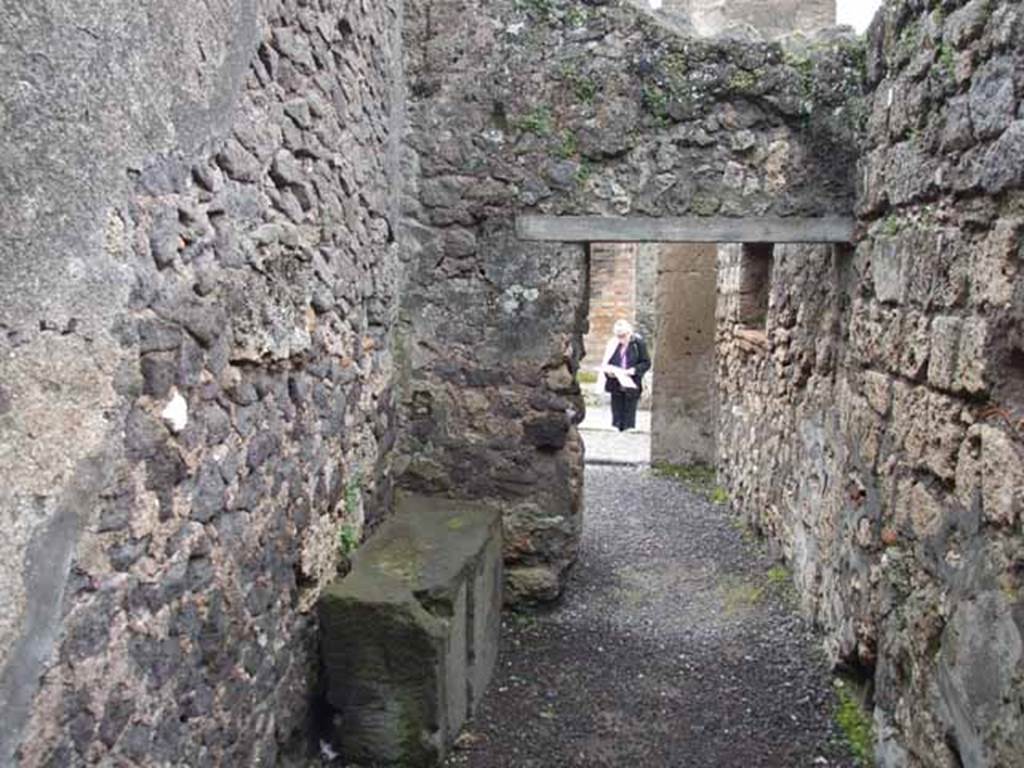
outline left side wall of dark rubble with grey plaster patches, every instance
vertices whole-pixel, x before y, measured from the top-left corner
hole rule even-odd
[[[301,723],[388,486],[399,8],[5,8],[3,765],[267,765]]]

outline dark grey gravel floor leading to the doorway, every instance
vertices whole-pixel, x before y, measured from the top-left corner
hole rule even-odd
[[[586,494],[565,597],[506,618],[446,765],[855,766],[818,642],[724,508],[624,467],[588,467]]]

